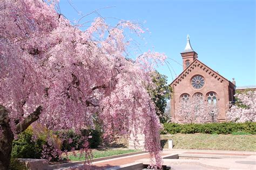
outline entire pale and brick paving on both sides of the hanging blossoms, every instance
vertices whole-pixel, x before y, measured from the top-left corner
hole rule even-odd
[[[256,169],[256,152],[164,149],[162,156],[175,154],[179,154],[180,158],[164,158],[164,165],[171,166],[172,169]],[[150,164],[149,154],[143,153],[93,162],[90,169],[117,169],[136,164]],[[84,165],[60,169],[84,169]]]

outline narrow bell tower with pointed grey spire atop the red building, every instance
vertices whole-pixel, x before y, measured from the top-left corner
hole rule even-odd
[[[197,53],[190,45],[190,35],[187,35],[186,47],[180,54],[183,59],[183,70],[185,70],[195,59],[197,59]]]

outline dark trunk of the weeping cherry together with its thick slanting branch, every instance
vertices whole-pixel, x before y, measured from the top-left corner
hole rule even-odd
[[[21,123],[16,125],[16,132],[21,133],[26,130],[34,121],[39,118],[42,107],[38,106],[36,110],[26,117]],[[3,105],[0,105],[0,126],[2,130],[0,132],[0,169],[9,169],[11,160],[12,141],[14,140],[14,134],[11,131],[9,125],[10,118],[8,117],[8,111]]]

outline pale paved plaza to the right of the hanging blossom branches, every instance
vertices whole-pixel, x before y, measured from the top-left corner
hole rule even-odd
[[[179,159],[163,159],[163,165],[181,169],[256,169],[256,152],[165,149],[179,153]],[[149,164],[149,160],[138,160]]]

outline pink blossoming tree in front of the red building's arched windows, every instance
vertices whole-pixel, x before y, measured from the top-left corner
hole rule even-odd
[[[207,123],[218,118],[218,105],[208,104],[203,96],[194,95],[192,98],[181,99],[176,115],[182,119],[181,123]]]

